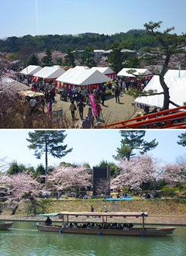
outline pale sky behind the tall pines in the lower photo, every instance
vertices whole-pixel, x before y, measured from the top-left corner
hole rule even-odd
[[[159,145],[151,150],[153,157],[158,157],[167,162],[174,162],[176,157],[183,156],[186,148],[177,144],[177,137],[184,130],[146,130],[145,140],[157,139]],[[0,130],[0,158],[7,156],[7,162],[17,161],[26,166],[45,166],[44,156],[38,160],[33,156],[34,150],[29,150],[29,142],[26,138],[29,130]],[[116,154],[116,148],[120,147],[121,135],[119,130],[67,130],[64,144],[68,148],[73,147],[71,153],[61,159],[50,157],[49,165],[59,164],[60,161],[81,164],[88,162],[91,168],[100,161],[113,161],[112,155]]]

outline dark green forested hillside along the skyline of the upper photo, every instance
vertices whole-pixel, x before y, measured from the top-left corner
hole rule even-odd
[[[43,51],[45,49],[60,50],[65,53],[67,48],[72,50],[84,50],[90,45],[94,49],[108,50],[112,43],[118,41],[122,48],[129,50],[139,50],[141,47],[156,47],[157,42],[153,36],[147,36],[144,30],[132,29],[127,33],[115,33],[108,36],[98,33],[84,33],[77,36],[72,35],[45,35],[45,36],[22,36],[8,37],[0,40],[0,51],[16,53],[20,50],[28,50],[30,54]]]

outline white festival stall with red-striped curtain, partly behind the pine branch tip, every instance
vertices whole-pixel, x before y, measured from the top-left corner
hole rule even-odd
[[[127,71],[129,71],[131,69],[136,70],[136,72],[133,73],[134,75],[127,73]],[[117,74],[117,77],[126,78],[128,81],[133,80],[133,79],[139,79],[137,76],[135,76],[135,74],[136,75],[143,74],[143,79],[150,80],[151,78],[153,78],[153,74],[146,68],[129,68],[129,67],[123,67],[122,70],[119,71],[119,73]]]

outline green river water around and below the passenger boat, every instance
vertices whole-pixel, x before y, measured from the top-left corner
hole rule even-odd
[[[166,237],[120,237],[39,232],[17,221],[0,231],[1,256],[185,256],[186,227]]]

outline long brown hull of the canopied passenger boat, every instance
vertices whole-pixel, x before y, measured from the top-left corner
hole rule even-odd
[[[77,229],[77,228],[61,228],[61,226],[45,226],[36,224],[39,231],[60,232],[71,234],[102,234],[102,235],[119,235],[119,236],[143,236],[143,237],[159,237],[173,234],[175,227],[157,227],[146,229],[132,230],[102,230],[102,229]]]

